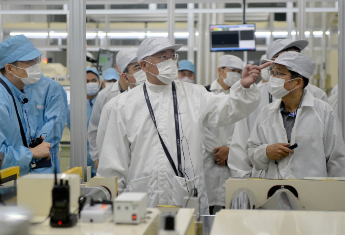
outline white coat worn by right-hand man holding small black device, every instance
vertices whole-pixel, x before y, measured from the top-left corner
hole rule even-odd
[[[297,143],[298,147],[294,154],[277,161],[280,175],[285,179],[344,177],[341,123],[329,104],[305,92],[291,133],[291,144]],[[278,99],[262,109],[247,143],[253,167],[266,170],[263,178],[278,178],[275,161],[266,156],[267,146],[287,143],[280,103]]]

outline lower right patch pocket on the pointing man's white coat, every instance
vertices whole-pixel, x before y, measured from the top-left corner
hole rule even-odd
[[[175,175],[173,176],[173,193],[172,193],[173,205],[182,206],[183,197],[190,195],[191,191],[194,189],[194,182],[195,182],[195,188],[198,190],[198,194],[200,194],[199,176],[197,176],[193,180],[188,180],[188,179],[178,177]],[[188,190],[189,190],[189,193],[188,193]]]

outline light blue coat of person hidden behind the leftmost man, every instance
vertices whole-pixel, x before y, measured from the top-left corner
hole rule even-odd
[[[57,172],[60,173],[58,151],[67,121],[66,91],[59,82],[46,78],[43,74],[37,83],[26,85],[24,89],[29,99],[26,111],[32,138],[42,135],[45,138],[44,142],[51,144],[52,165],[32,170],[32,173],[54,173],[55,165]]]

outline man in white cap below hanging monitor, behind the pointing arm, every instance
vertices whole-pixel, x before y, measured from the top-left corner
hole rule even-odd
[[[218,62],[218,78],[206,86],[216,95],[229,94],[230,87],[241,79],[243,61],[234,55],[223,55]],[[203,154],[205,183],[210,214],[215,205],[225,206],[225,181],[230,176],[227,166],[229,148],[234,133],[234,124],[205,128],[205,153]]]

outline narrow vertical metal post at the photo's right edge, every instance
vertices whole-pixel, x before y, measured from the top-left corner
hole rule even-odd
[[[345,2],[338,1],[338,117],[345,138]]]

